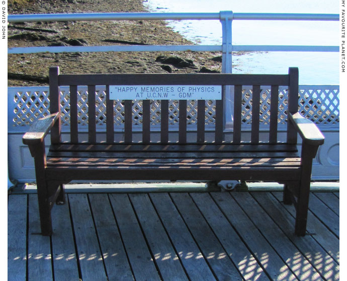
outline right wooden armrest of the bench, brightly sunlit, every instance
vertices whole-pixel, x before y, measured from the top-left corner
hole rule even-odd
[[[299,112],[289,113],[289,120],[302,137],[302,141],[308,145],[320,146],[324,143],[324,136],[315,123],[302,116]]]

